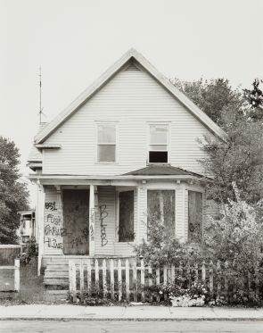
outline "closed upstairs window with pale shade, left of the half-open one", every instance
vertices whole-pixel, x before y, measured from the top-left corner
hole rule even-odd
[[[116,162],[116,124],[98,125],[98,162]]]

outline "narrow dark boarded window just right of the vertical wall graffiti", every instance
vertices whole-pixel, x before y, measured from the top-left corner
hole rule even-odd
[[[134,191],[119,192],[119,242],[134,240]]]

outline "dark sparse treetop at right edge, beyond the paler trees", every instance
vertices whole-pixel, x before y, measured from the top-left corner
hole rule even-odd
[[[259,84],[263,83],[263,80],[254,79],[252,83],[252,89],[244,89],[244,96],[248,103],[251,105],[251,111],[249,116],[252,120],[263,120],[263,92],[259,88]]]

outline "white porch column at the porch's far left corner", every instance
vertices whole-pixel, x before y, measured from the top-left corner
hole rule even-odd
[[[44,254],[44,209],[45,209],[45,190],[40,181],[37,180],[37,207],[36,220],[38,232],[38,262],[37,275],[40,275],[42,256]]]

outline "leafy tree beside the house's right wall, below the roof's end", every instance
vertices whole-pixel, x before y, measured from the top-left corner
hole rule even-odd
[[[263,124],[245,118],[236,121],[230,116],[226,123],[225,141],[205,137],[202,142],[207,158],[201,164],[213,178],[208,194],[219,203],[234,200],[234,181],[242,199],[255,204],[263,196]]]

